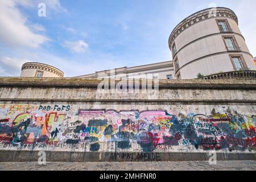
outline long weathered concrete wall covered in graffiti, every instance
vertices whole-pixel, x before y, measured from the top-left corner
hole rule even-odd
[[[255,156],[255,80],[160,80],[155,98],[142,90],[97,94],[98,84],[82,78],[0,78],[2,156],[10,159],[16,150],[96,152],[93,160],[98,154],[106,154],[104,160],[129,154],[137,159],[141,152],[154,160],[169,160],[167,153],[200,159],[209,151]]]

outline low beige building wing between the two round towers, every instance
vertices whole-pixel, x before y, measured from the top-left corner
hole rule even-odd
[[[161,63],[141,65],[138,67],[123,67],[109,69],[105,71],[95,72],[89,75],[77,76],[81,78],[100,78],[110,77],[115,78],[125,75],[127,78],[138,78],[147,76],[147,78],[159,78],[159,79],[173,79],[174,78],[174,66],[172,61],[164,61]]]

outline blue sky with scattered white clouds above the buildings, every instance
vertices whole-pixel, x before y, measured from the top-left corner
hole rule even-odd
[[[214,4],[237,14],[256,56],[255,0],[0,0],[0,76],[19,76],[28,61],[73,77],[171,60],[171,31]]]

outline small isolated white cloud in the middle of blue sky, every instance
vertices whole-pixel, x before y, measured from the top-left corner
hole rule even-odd
[[[63,46],[71,50],[71,52],[75,52],[75,53],[83,53],[89,47],[89,45],[85,43],[84,40],[78,40],[76,42],[69,42],[66,40],[63,43]]]

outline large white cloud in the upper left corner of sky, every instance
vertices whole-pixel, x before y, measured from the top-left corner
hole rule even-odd
[[[13,47],[33,48],[48,42],[50,39],[47,36],[35,34],[30,30],[26,25],[27,18],[16,7],[17,4],[16,0],[0,1],[0,42]],[[30,1],[23,1],[22,5],[30,6]]]

